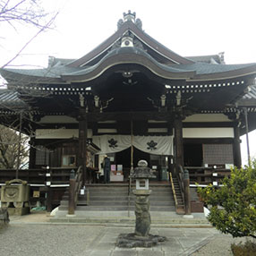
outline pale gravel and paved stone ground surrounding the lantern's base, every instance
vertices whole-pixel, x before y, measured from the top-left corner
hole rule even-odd
[[[232,255],[230,235],[214,228],[151,227],[150,234],[165,235],[167,241],[153,248],[123,249],[115,246],[119,234],[132,233],[133,226],[60,225],[46,215],[12,217],[0,231],[0,255],[86,256],[174,256]]]

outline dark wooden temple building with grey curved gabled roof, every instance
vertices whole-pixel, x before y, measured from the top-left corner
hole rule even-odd
[[[79,59],[0,71],[1,124],[30,135],[30,168],[82,166],[125,182],[140,159],[156,182],[179,166],[241,166],[240,135],[256,128],[256,63],[178,55],[151,38],[135,13]],[[189,169],[189,168],[188,168]],[[196,177],[195,177],[196,178]]]

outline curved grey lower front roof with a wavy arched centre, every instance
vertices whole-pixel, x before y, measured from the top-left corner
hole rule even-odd
[[[92,72],[96,72],[98,67],[105,62],[107,62],[111,57],[118,55],[132,54],[134,57],[134,63],[140,64],[140,61],[144,58],[144,60],[149,60],[151,64],[154,64],[156,67],[160,68],[165,73],[188,73],[189,75],[209,75],[215,73],[226,73],[226,72],[234,72],[238,70],[242,70],[247,67],[253,67],[256,64],[207,64],[207,63],[193,63],[193,64],[173,64],[166,65],[160,64],[156,61],[151,55],[147,54],[147,52],[143,51],[141,48],[136,47],[120,47],[110,51],[106,56],[104,56],[98,64],[94,64],[92,66],[83,66],[83,67],[72,67],[67,64],[55,64],[51,68],[46,69],[5,69],[0,70],[0,73],[8,80],[13,79],[14,75],[16,75],[16,79],[20,76],[25,76],[26,78],[33,80],[38,78],[38,82],[40,82],[40,78],[48,79],[57,79],[62,81],[65,76],[75,77],[81,75],[87,75]],[[136,56],[138,59],[135,61]],[[116,62],[116,61],[115,61]],[[132,63],[132,60],[129,61]],[[117,63],[108,62],[108,67],[111,65],[115,65]],[[107,66],[105,67],[107,69]],[[256,69],[255,69],[256,72]],[[99,75],[99,74],[98,74]],[[7,76],[7,77],[6,77]],[[35,81],[34,81],[35,82]],[[37,81],[36,81],[37,82]],[[42,82],[42,81],[41,81]]]

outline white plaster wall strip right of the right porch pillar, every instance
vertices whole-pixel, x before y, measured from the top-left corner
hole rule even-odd
[[[183,138],[234,138],[232,127],[183,128]]]

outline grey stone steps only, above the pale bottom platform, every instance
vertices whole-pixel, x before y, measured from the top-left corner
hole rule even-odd
[[[81,211],[134,211],[135,196],[132,190],[135,185],[132,183],[130,198],[128,196],[128,183],[109,183],[109,184],[87,184],[89,201],[87,194],[79,196],[76,207],[76,214]],[[175,212],[175,201],[170,183],[152,183],[152,191],[149,196],[150,212]],[[178,184],[175,183],[176,197],[180,207],[183,206],[182,196],[179,192]],[[59,211],[68,209],[68,192],[59,206]]]

